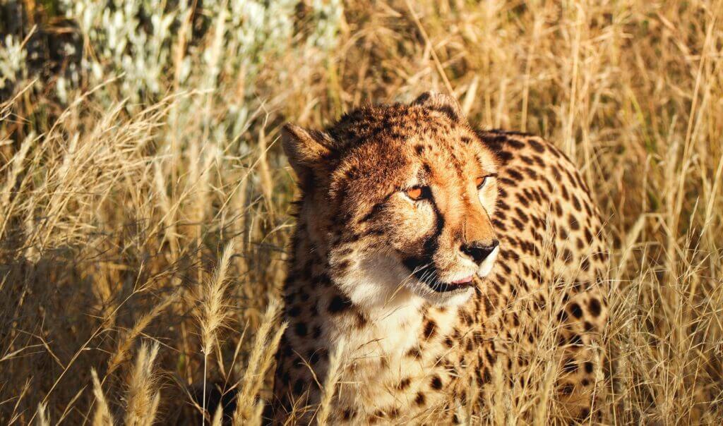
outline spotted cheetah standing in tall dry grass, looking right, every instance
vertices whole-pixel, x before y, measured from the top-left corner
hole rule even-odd
[[[460,422],[500,374],[542,374],[529,360],[550,329],[561,412],[591,415],[607,254],[589,188],[559,149],[473,129],[433,92],[324,131],[287,124],[282,143],[301,195],[270,422],[314,420],[330,359],[330,424]]]

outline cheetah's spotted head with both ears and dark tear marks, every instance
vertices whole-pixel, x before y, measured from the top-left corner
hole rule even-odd
[[[359,305],[459,304],[492,270],[497,162],[445,95],[362,108],[327,131],[286,126],[299,220]]]

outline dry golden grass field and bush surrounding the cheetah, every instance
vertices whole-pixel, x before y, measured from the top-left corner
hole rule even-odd
[[[260,422],[293,224],[281,125],[451,90],[591,184],[607,421],[723,424],[723,1],[7,0],[0,18],[0,422],[197,424],[204,386]],[[468,422],[547,424],[541,393]]]

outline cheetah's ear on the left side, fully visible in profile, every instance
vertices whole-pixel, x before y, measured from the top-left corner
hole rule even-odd
[[[281,132],[283,152],[300,180],[310,174],[327,170],[333,150],[333,139],[323,131],[307,130],[296,124],[286,124]]]

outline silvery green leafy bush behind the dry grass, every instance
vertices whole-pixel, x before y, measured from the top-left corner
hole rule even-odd
[[[166,94],[174,85],[179,90],[218,90],[222,74],[252,88],[274,58],[293,53],[311,65],[322,56],[314,53],[333,49],[342,12],[339,0],[312,1],[307,22],[311,30],[297,40],[298,0],[210,0],[195,11],[192,1],[171,3],[163,9],[152,0],[63,0],[65,16],[77,22],[86,43],[77,72],[87,74],[90,86],[116,78],[113,89],[129,105]],[[192,28],[199,22],[205,25],[200,38]],[[72,85],[66,78],[61,77],[59,87]],[[249,89],[242,98],[257,96]],[[229,107],[240,110],[242,105]]]

